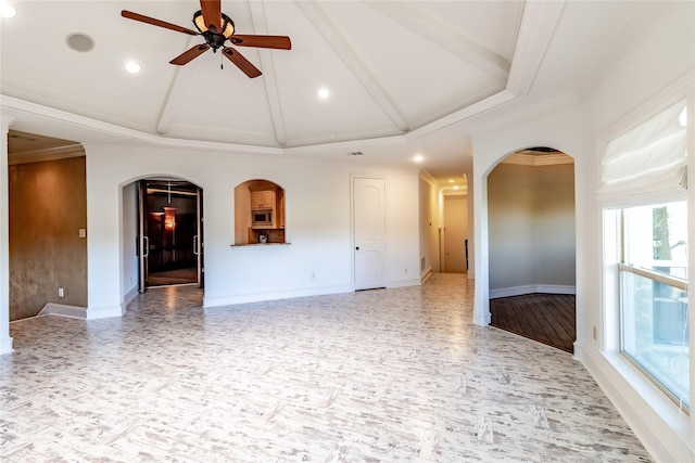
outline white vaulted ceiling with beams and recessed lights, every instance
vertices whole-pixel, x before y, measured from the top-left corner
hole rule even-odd
[[[0,20],[5,108],[37,103],[108,123],[97,138],[117,127],[289,156],[420,154],[440,181],[470,171],[469,133],[485,117],[580,99],[659,12],[624,1],[223,0],[239,34],[291,37],[290,51],[237,48],[263,72],[250,79],[212,51],[170,65],[202,38],[121,16],[193,28],[197,0],[11,3],[16,16]],[[94,48],[71,49],[74,33]],[[128,60],[142,70],[126,73]]]

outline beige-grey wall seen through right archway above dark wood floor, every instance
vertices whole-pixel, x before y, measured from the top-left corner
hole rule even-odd
[[[490,290],[576,284],[574,165],[500,164],[488,177]]]

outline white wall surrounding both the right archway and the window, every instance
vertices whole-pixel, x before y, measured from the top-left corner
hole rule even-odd
[[[661,10],[660,10],[661,11]],[[476,304],[478,324],[489,324],[489,242],[486,176],[507,154],[528,146],[553,146],[574,158],[577,220],[577,343],[574,357],[581,360],[606,391],[622,416],[658,462],[695,461],[695,426],[692,416],[660,393],[644,375],[627,364],[606,336],[616,337],[615,304],[605,304],[602,207],[596,200],[603,143],[644,119],[669,102],[687,95],[691,115],[695,106],[695,3],[671,2],[653,26],[630,44],[599,85],[574,107],[546,112],[489,131],[473,141],[473,192],[476,249]],[[517,106],[518,110],[518,106]],[[534,114],[532,107],[529,114]],[[489,116],[503,118],[493,112]],[[509,120],[508,118],[506,120]],[[691,117],[692,120],[692,117]],[[691,121],[692,127],[692,121]],[[695,137],[690,136],[688,175],[695,171]],[[688,191],[695,202],[695,192]],[[692,207],[691,207],[692,209]],[[691,243],[695,220],[690,218]],[[695,259],[691,253],[690,265]],[[693,272],[688,282],[692,286]],[[695,297],[688,293],[690,310]],[[615,303],[615,301],[614,301]],[[691,333],[693,323],[691,317]],[[596,338],[593,331],[596,329]],[[610,329],[610,330],[609,330]],[[695,384],[695,359],[691,344],[691,384]],[[695,393],[691,388],[691,402]]]

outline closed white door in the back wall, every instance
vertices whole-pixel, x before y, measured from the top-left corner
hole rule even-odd
[[[353,179],[355,290],[387,285],[386,181]]]

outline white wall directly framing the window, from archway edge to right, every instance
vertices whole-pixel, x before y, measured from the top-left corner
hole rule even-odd
[[[617,325],[607,322],[616,317],[618,307],[615,299],[603,295],[602,207],[596,201],[595,191],[603,143],[644,120],[659,107],[686,95],[690,97],[688,106],[693,114],[694,23],[695,3],[668,4],[664,15],[656,18],[654,25],[632,44],[631,50],[621,56],[589,95],[584,104],[584,145],[592,165],[586,165],[578,176],[578,179],[582,178],[581,183],[578,182],[578,196],[581,194],[585,197],[581,213],[578,211],[578,221],[581,221],[582,234],[586,236],[586,253],[582,254],[584,261],[579,266],[581,279],[586,282],[583,285],[584,330],[579,340],[581,360],[657,461],[695,461],[695,426],[692,416],[679,412],[674,403],[616,351]],[[690,139],[688,165],[692,173],[695,164],[692,133]],[[693,210],[695,194],[692,188],[688,194]],[[691,218],[691,244],[695,242],[693,223]],[[691,266],[693,261],[691,255]],[[692,287],[695,281],[692,271],[690,275]],[[694,307],[692,293],[691,314]],[[587,333],[594,326],[597,329],[595,339]],[[691,343],[691,403],[694,403],[695,356],[692,346]]]

